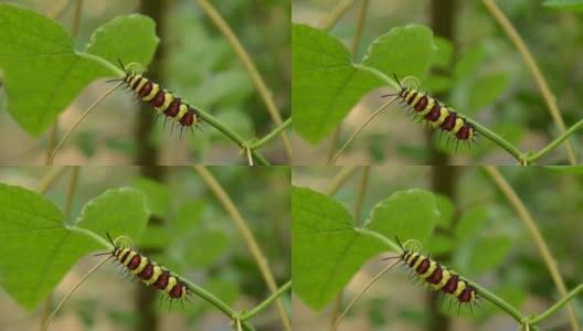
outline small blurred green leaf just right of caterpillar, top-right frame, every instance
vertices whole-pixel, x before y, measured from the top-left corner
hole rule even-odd
[[[466,114],[478,111],[500,96],[508,85],[506,73],[495,73],[477,78],[469,89],[469,105]]]

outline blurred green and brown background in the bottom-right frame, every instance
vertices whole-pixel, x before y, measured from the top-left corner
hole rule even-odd
[[[348,167],[295,167],[293,183],[325,192],[332,179]],[[582,172],[548,168],[499,168],[532,215],[568,291],[583,282],[583,183]],[[348,180],[333,199],[353,213],[362,183],[364,167],[349,171]],[[346,174],[347,172],[344,172]],[[448,185],[435,178],[448,178]],[[442,217],[423,253],[454,268],[469,280],[494,291],[522,313],[540,313],[554,305],[560,296],[551,280],[539,249],[518,218],[506,196],[481,168],[474,167],[372,167],[368,175],[359,224],[370,217],[374,205],[396,191],[425,189],[447,196],[452,204],[439,204]],[[444,221],[445,222],[445,221]],[[414,225],[412,225],[414,226]],[[393,238],[390,238],[393,239]],[[403,239],[403,238],[401,238]],[[371,258],[344,287],[338,314],[391,261],[386,252]],[[318,257],[326,259],[326,256]],[[293,271],[294,273],[294,271]],[[517,330],[506,312],[486,300],[480,308],[448,309],[441,292],[428,291],[409,278],[404,267],[393,267],[381,277],[352,307],[338,330]],[[433,302],[433,303],[432,303]],[[571,301],[580,324],[583,321],[581,296]],[[314,311],[293,296],[293,320],[297,330],[330,330],[333,302],[322,311]],[[442,312],[444,311],[444,312]],[[542,330],[571,330],[564,308],[544,323]]]

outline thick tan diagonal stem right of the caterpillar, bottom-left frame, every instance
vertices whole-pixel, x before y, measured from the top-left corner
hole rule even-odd
[[[267,284],[267,287],[269,288],[272,292],[276,292],[277,285],[275,282],[274,276],[272,275],[272,271],[269,270],[269,267],[267,266],[267,259],[263,255],[259,248],[259,245],[257,244],[257,241],[255,239],[255,237],[253,236],[253,233],[247,227],[245,220],[239,212],[233,201],[231,201],[226,192],[223,190],[223,188],[216,181],[216,179],[212,175],[209,169],[202,166],[195,166],[194,171],[197,171],[197,173],[202,178],[202,180],[206,183],[209,189],[214,193],[219,202],[223,205],[225,211],[229,213],[229,215],[231,216],[231,220],[233,220],[233,223],[239,228],[241,236],[243,237],[253,258],[255,259],[255,263],[257,264],[259,271],[263,278],[265,279],[265,282]],[[282,322],[284,324],[285,330],[292,331],[292,324],[289,322],[289,319],[287,318],[282,300],[278,299],[275,303],[277,306],[277,309],[279,310],[279,316],[282,317]]]

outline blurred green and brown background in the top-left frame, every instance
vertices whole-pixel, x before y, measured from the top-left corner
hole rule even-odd
[[[1,1],[6,2],[6,1]],[[45,14],[62,1],[8,1]],[[59,22],[71,31],[76,1],[70,1]],[[248,52],[282,117],[289,109],[289,0],[212,1]],[[148,10],[152,10],[148,13]],[[147,9],[150,8],[150,9]],[[263,137],[276,126],[239,57],[201,11],[197,1],[83,1],[76,50],[82,51],[99,25],[119,15],[142,13],[157,22],[160,44],[146,76],[215,116],[245,139]],[[161,32],[161,33],[160,33]],[[0,76],[1,77],[1,76]],[[91,84],[61,114],[59,140],[110,84]],[[0,163],[44,164],[50,129],[28,136],[7,111],[0,88]],[[209,125],[194,137],[162,128],[150,106],[140,109],[134,93],[119,88],[81,124],[55,158],[56,164],[233,164],[244,163],[239,147]],[[153,122],[153,125],[152,125]],[[141,127],[149,134],[137,134]],[[280,139],[261,149],[273,163],[287,163]]]

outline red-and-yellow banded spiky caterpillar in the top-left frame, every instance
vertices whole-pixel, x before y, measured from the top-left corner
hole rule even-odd
[[[181,98],[174,96],[170,92],[162,88],[160,85],[144,77],[140,74],[130,74],[121,60],[118,58],[119,65],[124,70],[126,76],[119,79],[109,79],[107,82],[124,82],[136,93],[136,95],[144,102],[150,104],[158,114],[163,114],[168,118],[172,118],[182,128],[197,126],[201,122],[199,110]]]

